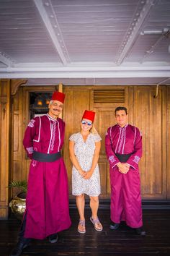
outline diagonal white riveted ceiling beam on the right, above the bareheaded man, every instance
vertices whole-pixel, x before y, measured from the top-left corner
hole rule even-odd
[[[138,20],[135,22],[135,26],[133,27],[133,24],[130,26],[131,33],[129,32],[127,35],[127,38],[125,38],[125,41],[122,42],[122,50],[120,50],[120,54],[117,56],[116,63],[118,65],[122,64],[122,61],[125,59],[125,57],[128,55],[129,51],[133,47],[133,44],[135,43],[136,38],[139,35],[140,27],[142,27],[143,22],[146,20],[146,17],[151,12],[151,8],[154,4],[156,4],[157,0],[147,0],[146,4],[143,6],[143,9],[141,10],[140,14],[138,14]],[[134,23],[133,19],[133,22]]]

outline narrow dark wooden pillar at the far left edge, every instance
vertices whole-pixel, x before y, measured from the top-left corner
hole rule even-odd
[[[9,191],[9,155],[11,153],[11,126],[10,126],[10,82],[0,80],[0,106],[1,106],[1,129],[0,129],[0,219],[8,217]]]

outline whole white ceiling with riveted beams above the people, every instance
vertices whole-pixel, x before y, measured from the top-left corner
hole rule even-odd
[[[0,0],[0,78],[170,85],[170,0]]]

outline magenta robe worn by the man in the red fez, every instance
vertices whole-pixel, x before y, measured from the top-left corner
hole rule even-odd
[[[48,114],[30,121],[24,134],[24,148],[32,159],[33,150],[57,153],[64,140],[65,123]],[[71,226],[68,206],[68,177],[63,158],[54,162],[32,159],[28,177],[24,237],[45,239]]]

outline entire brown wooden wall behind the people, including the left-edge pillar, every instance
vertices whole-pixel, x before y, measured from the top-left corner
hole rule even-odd
[[[0,82],[0,218],[8,216],[9,190],[6,186],[9,181],[27,179],[29,171],[30,160],[26,158],[22,146],[24,129],[29,121],[29,93],[30,91],[53,92],[56,87],[22,87],[17,93],[18,88],[18,81],[11,82],[11,85],[10,80]],[[129,110],[129,122],[139,127],[143,133],[143,158],[140,161],[143,199],[170,199],[170,86],[159,86],[158,98],[153,98],[156,86],[64,87],[66,104],[63,118],[66,121],[66,140],[63,155],[68,169],[70,193],[71,161],[68,154],[68,138],[73,132],[79,132],[79,121],[84,109],[94,109],[97,111],[95,124],[102,136],[99,158],[101,198],[109,198],[109,165],[104,153],[104,136],[107,127],[115,123],[115,107],[123,104],[97,103],[95,105],[93,103],[94,88],[95,90],[125,88],[124,105]],[[13,104],[10,93],[13,95]]]

